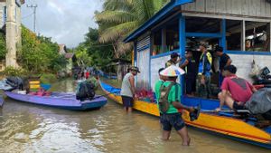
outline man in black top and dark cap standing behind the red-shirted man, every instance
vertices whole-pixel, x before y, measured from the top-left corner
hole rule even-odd
[[[227,53],[223,53],[223,47],[220,47],[217,45],[215,49],[215,53],[217,56],[220,57],[220,86],[221,86],[222,81],[224,80],[224,77],[222,75],[224,67],[229,66],[232,61]]]

